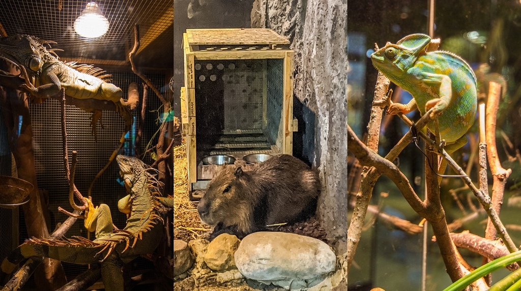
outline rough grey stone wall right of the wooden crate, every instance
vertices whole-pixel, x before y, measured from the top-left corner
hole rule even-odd
[[[302,112],[294,115],[306,123],[300,133],[302,155],[320,169],[324,191],[318,216],[342,254],[347,236],[347,0],[255,0],[251,21],[253,28],[287,36],[295,51],[294,93]]]

